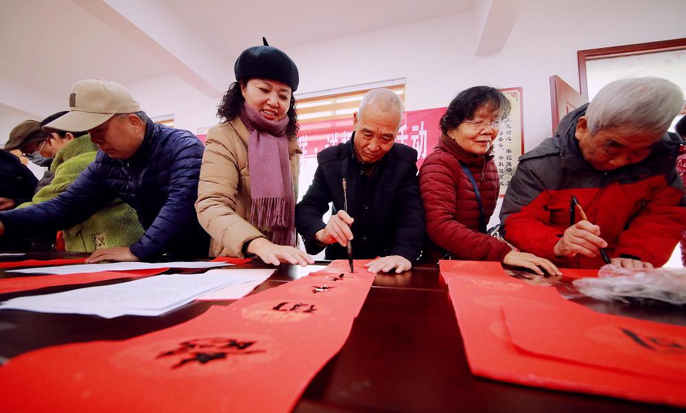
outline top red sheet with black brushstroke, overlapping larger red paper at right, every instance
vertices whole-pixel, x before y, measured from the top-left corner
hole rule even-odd
[[[552,313],[508,303],[503,312],[510,341],[523,351],[686,386],[684,327],[570,307]],[[531,334],[542,325],[545,340]]]

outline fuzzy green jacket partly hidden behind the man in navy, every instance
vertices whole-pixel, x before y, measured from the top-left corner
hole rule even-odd
[[[19,208],[45,202],[60,195],[93,162],[96,154],[97,146],[91,142],[88,134],[69,141],[57,152],[50,166],[55,178],[49,185],[36,192],[32,202],[25,202]],[[84,222],[62,231],[65,249],[73,252],[128,247],[143,236],[143,228],[136,211],[119,199]]]

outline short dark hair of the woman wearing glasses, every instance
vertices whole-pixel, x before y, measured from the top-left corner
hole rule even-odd
[[[460,123],[472,119],[476,111],[486,105],[492,110],[499,110],[501,118],[507,117],[512,108],[508,98],[497,88],[473,86],[458,93],[450,102],[440,118],[440,130],[447,134],[449,130],[460,126]]]

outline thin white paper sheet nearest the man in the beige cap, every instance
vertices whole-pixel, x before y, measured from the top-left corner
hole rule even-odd
[[[147,270],[149,268],[197,269],[216,268],[224,266],[233,266],[233,264],[210,261],[174,261],[169,263],[121,262],[103,264],[76,264],[73,266],[24,268],[23,270],[10,270],[8,272],[21,272],[23,274],[82,274],[84,272]]]

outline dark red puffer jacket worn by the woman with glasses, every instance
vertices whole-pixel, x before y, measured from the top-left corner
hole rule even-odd
[[[436,251],[440,248],[449,252],[453,259],[502,261],[511,248],[503,241],[479,232],[476,193],[460,163],[467,165],[474,176],[486,222],[495,210],[500,185],[493,155],[488,152],[486,156],[475,156],[449,137],[441,137],[419,170],[419,189],[431,241],[425,248],[425,255],[433,261],[440,255]]]

